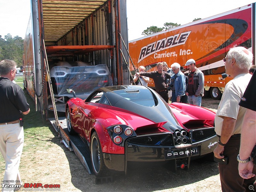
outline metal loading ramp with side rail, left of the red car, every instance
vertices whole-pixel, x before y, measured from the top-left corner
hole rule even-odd
[[[59,117],[59,130],[58,126],[56,126],[55,118],[49,118],[49,121],[52,123],[56,132],[59,132],[61,143],[63,143],[70,151],[74,151],[89,174],[93,174],[89,146],[84,144],[84,141],[79,135],[70,135],[68,133],[66,117]]]

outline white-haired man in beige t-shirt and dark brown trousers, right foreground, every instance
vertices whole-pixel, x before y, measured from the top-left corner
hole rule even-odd
[[[246,48],[233,47],[223,59],[226,73],[233,79],[225,86],[214,120],[215,132],[219,137],[219,143],[213,151],[214,156],[219,159],[228,157],[228,164],[219,163],[222,191],[250,191],[247,186],[255,181],[255,177],[244,180],[237,169],[237,160],[247,161],[237,157],[246,112],[246,108],[240,107],[238,103],[252,77],[249,74],[252,58],[252,53]]]

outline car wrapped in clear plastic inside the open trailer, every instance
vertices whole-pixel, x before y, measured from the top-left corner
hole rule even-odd
[[[50,70],[54,95],[73,97],[67,89],[73,89],[76,96],[86,99],[100,87],[112,86],[113,80],[107,65],[66,67],[56,66]]]

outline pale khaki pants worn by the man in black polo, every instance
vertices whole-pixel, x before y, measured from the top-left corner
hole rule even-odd
[[[23,149],[24,132],[19,123],[0,125],[0,152],[5,161],[4,182],[22,184],[20,180],[20,156]],[[4,190],[3,188],[2,190]],[[8,188],[10,190],[10,188]]]

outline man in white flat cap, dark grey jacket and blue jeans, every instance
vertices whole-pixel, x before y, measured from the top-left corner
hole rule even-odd
[[[204,96],[204,74],[196,68],[196,61],[193,59],[189,59],[185,66],[190,70],[188,86],[185,91],[188,96],[188,104],[201,107],[202,97]]]

